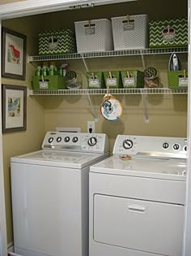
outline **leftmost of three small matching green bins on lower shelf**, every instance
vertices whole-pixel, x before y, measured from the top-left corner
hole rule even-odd
[[[87,87],[89,89],[105,88],[103,72],[87,72]]]

